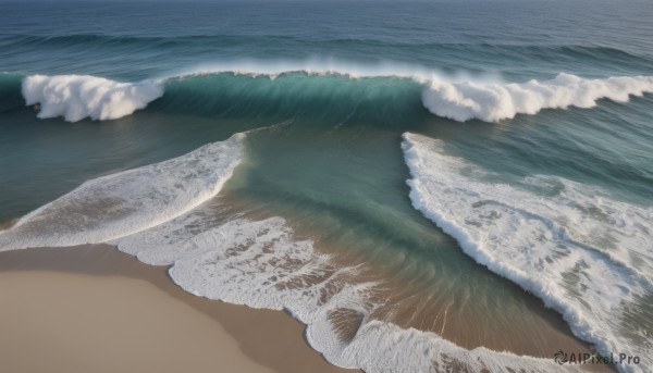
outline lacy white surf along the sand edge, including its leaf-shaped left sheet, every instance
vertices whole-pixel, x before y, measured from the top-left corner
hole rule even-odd
[[[212,198],[243,153],[244,135],[180,158],[85,183],[0,234],[2,250],[109,241],[139,260],[170,265],[190,294],[286,310],[333,364],[367,372],[559,371],[551,359],[468,350],[430,332],[372,316],[383,304],[358,265],[337,265],[279,216],[224,213]],[[455,325],[452,325],[455,327]],[[582,371],[565,366],[565,371]]]

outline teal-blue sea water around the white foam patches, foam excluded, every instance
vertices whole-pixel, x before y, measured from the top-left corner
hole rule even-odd
[[[477,264],[412,207],[402,135],[441,139],[449,154],[502,183],[559,176],[650,209],[650,88],[628,102],[461,123],[429,110],[430,83],[419,78],[506,85],[567,73],[638,77],[646,86],[652,25],[646,2],[2,2],[0,221],[85,181],[249,132],[246,162],[222,195],[283,216],[324,248],[403,284],[394,312],[380,311],[395,314],[389,320],[443,331],[431,319],[451,307],[454,320],[492,336],[469,326],[442,333],[465,347],[494,343],[546,358],[563,346],[586,348],[559,326],[562,316]],[[115,120],[38,119],[21,91],[36,74],[157,82],[163,95]],[[643,245],[651,259],[653,244]],[[406,321],[414,309],[418,321]],[[624,328],[651,333],[652,312],[643,299]]]

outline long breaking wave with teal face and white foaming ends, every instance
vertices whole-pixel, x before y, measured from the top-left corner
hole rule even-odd
[[[428,110],[459,122],[497,122],[543,109],[592,108],[601,99],[625,102],[653,92],[653,77],[588,79],[560,73],[551,80],[505,83],[496,76],[447,76],[408,64],[239,62],[139,83],[32,75],[23,79],[22,92],[27,104],[39,104],[39,117],[63,116],[70,122],[115,120],[155,100],[152,110],[200,115],[264,113],[396,122],[423,116]]]

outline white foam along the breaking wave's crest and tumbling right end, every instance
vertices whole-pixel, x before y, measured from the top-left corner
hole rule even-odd
[[[237,61],[199,66],[182,76],[234,73],[268,76],[287,73],[342,75],[349,78],[395,77],[424,86],[422,103],[433,114],[465,122],[496,122],[517,114],[537,114],[543,109],[592,108],[601,99],[626,102],[630,96],[653,92],[653,76],[617,76],[587,79],[560,73],[554,79],[506,83],[497,74],[446,74],[417,64],[379,62],[360,64],[338,60]]]

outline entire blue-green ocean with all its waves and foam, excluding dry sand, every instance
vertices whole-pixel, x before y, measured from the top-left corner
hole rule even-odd
[[[650,1],[0,2],[0,175],[338,366],[653,372]]]

